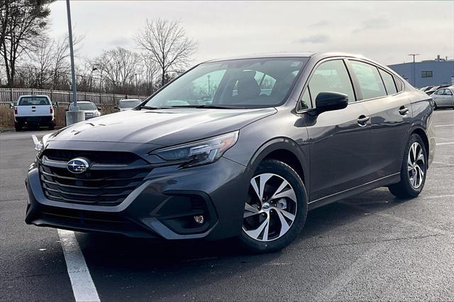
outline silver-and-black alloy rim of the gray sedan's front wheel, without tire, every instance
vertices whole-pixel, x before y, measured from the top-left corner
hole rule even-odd
[[[262,242],[284,236],[297,214],[297,196],[289,182],[277,174],[259,174],[250,180],[249,196],[243,214],[245,234]]]

